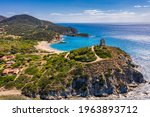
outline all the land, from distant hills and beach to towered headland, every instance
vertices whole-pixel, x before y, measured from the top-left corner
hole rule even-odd
[[[127,93],[145,82],[131,57],[104,39],[70,52],[50,48],[48,43],[60,41],[61,35],[80,34],[28,15],[0,21],[0,94],[16,90],[17,96],[32,99],[101,97]]]

